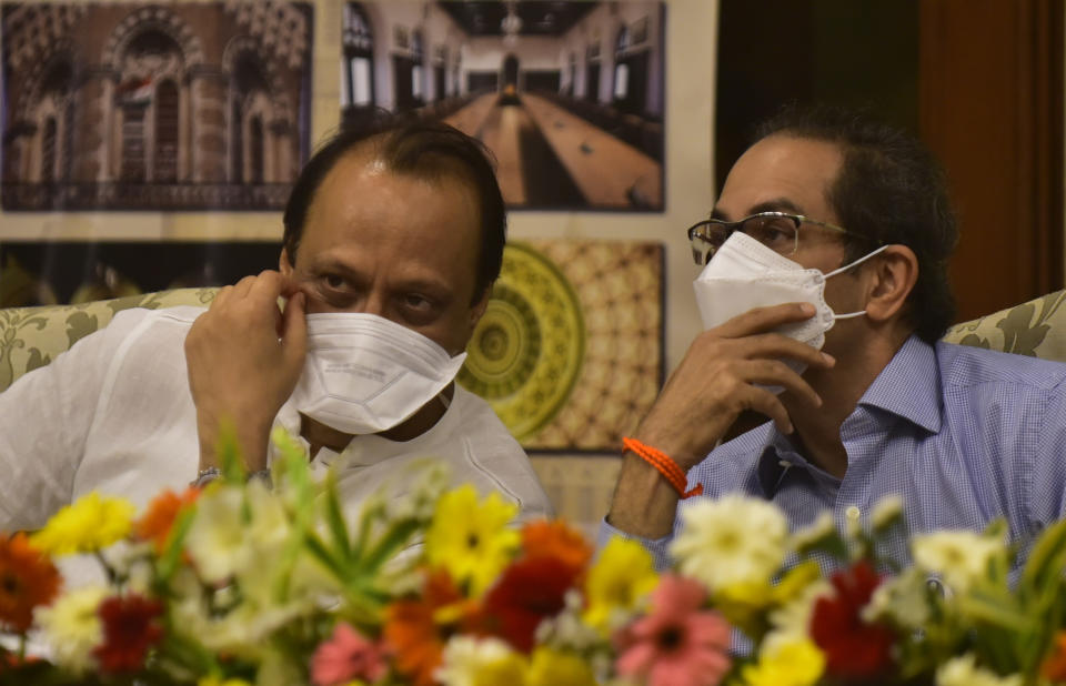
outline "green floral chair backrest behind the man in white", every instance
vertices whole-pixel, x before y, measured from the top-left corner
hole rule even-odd
[[[78,305],[0,310],[0,391],[16,379],[44,366],[90,333],[107,326],[130,307],[208,305],[218,289],[173,289]]]

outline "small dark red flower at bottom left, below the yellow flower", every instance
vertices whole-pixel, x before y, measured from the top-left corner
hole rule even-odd
[[[163,628],[155,618],[163,613],[159,601],[137,594],[113,596],[100,604],[103,644],[92,652],[103,672],[137,672],[144,666],[148,649],[159,643]]]

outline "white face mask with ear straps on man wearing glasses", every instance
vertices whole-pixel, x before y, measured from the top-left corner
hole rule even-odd
[[[846,272],[886,248],[883,245],[851,264],[823,274],[816,269],[804,269],[752,236],[735,231],[714,253],[693,284],[703,326],[714,329],[754,307],[808,302],[815,307],[814,316],[785,324],[777,332],[822,350],[825,332],[833,327],[836,320],[866,314],[865,310],[835,314],[825,302],[825,280]],[[786,362],[793,369],[798,366],[797,372],[803,371],[798,363]]]

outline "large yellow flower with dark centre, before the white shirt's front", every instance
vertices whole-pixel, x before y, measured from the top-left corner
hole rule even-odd
[[[459,584],[480,596],[496,579],[519,547],[519,532],[507,524],[519,513],[496,493],[481,503],[471,485],[445,493],[425,533],[425,556]]]

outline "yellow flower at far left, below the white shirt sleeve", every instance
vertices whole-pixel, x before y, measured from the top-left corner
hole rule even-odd
[[[92,553],[124,538],[135,513],[128,500],[93,491],[52,515],[31,541],[52,556]]]

